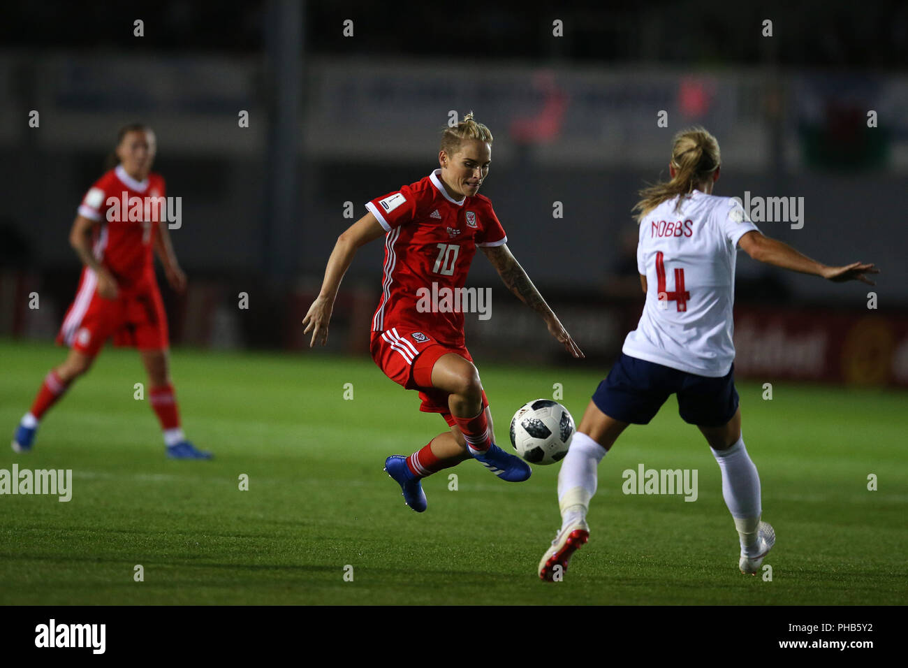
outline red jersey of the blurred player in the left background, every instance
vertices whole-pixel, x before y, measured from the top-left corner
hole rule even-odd
[[[94,183],[79,205],[80,215],[101,223],[94,231],[94,257],[114,274],[117,285],[123,290],[143,289],[149,281],[154,281],[153,240],[154,235],[160,233],[158,223],[150,219],[156,216],[146,215],[156,209],[146,208],[144,203],[146,198],[165,196],[160,174],[148,174],[139,182],[126,174],[123,165],[117,165]],[[128,215],[128,208],[127,215],[123,215],[123,197],[127,207],[130,198],[142,200],[143,220],[129,220],[136,216]],[[109,198],[115,198],[116,202],[108,203]],[[112,206],[118,220],[108,219]]]

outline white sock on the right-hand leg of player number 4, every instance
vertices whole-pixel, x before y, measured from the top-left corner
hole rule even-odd
[[[760,475],[747,454],[744,434],[730,448],[710,450],[722,471],[722,497],[735,519],[741,552],[754,556],[757,547],[756,532],[763,508],[760,503]]]

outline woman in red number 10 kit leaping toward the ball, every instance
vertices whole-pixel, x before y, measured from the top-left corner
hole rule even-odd
[[[413,510],[426,510],[421,478],[475,458],[508,482],[527,480],[530,469],[493,443],[489,401],[464,344],[463,313],[427,309],[424,294],[462,288],[479,247],[518,298],[536,311],[548,331],[575,357],[583,354],[508,250],[498,217],[479,186],[489,174],[492,135],[467,115],[446,129],[440,169],[398,191],[376,197],[369,211],[338,238],[321,293],[302,321],[310,346],[328,337],[331,309],[343,274],[362,245],[385,237],[381,297],[372,318],[371,354],[395,383],[419,390],[419,410],[439,413],[450,430],[409,457],[391,455],[385,470],[400,484]],[[438,292],[436,292],[436,288]]]

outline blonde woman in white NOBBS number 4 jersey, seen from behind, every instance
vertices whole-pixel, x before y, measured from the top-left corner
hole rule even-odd
[[[735,254],[740,246],[755,260],[830,281],[857,280],[873,264],[826,266],[770,239],[731,197],[713,195],[719,177],[719,145],[703,128],[675,136],[671,181],[640,191],[637,269],[646,305],[637,329],[587,406],[558,474],[561,529],[539,562],[551,581],[560,565],[587,542],[589,500],[596,494],[597,466],[628,424],[647,424],[670,394],[678,412],[696,424],[722,471],[722,495],[735,519],[742,573],[755,574],[775,543],[761,521],[760,478],[741,436],[732,343]]]

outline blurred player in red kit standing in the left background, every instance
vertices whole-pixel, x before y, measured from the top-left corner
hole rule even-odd
[[[31,450],[44,413],[88,371],[113,336],[114,344],[133,346],[142,355],[149,402],[161,421],[167,455],[175,459],[212,456],[196,450],[183,435],[167,368],[167,319],[154,278],[153,251],[174,290],[185,289],[186,276],[173,254],[167,216],[160,215],[165,188],[163,177],[151,171],[154,154],[151,128],[141,124],[123,127],[115,149],[119,165],[95,182],[79,206],[69,241],[84,268],[56,339],[70,351],[64,363],[44,377],[35,403],[19,423],[13,438],[17,453]],[[130,207],[136,202],[133,198],[138,198],[142,214],[123,215],[128,211],[121,205],[124,198]],[[129,220],[134,217],[142,220]]]

